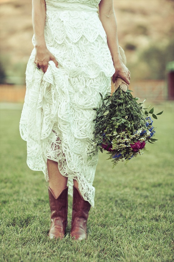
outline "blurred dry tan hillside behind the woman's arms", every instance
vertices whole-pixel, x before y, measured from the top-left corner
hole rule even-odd
[[[143,50],[153,45],[164,50],[171,45],[173,4],[173,0],[114,0],[119,44],[125,49],[129,68],[134,70],[140,63],[141,70],[147,71],[145,78],[150,75],[147,63],[142,64]],[[20,82],[22,76],[24,81],[33,48],[31,9],[31,0],[0,0],[1,63],[12,82]],[[173,59],[170,56],[168,60]],[[137,77],[134,71],[132,77]]]

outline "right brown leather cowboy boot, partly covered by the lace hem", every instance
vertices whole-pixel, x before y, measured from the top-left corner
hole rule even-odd
[[[71,237],[74,240],[86,238],[86,223],[91,205],[82,198],[80,191],[73,186],[73,211],[71,221]]]

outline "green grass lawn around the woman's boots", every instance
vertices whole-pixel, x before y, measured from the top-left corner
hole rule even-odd
[[[86,241],[67,235],[49,240],[50,210],[42,172],[26,164],[20,138],[21,110],[1,110],[1,261],[173,261],[173,104],[154,120],[156,139],[149,152],[112,169],[100,154]]]

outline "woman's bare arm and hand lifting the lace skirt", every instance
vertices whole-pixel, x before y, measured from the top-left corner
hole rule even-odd
[[[45,73],[48,68],[48,62],[52,60],[56,67],[58,62],[49,52],[45,43],[44,28],[46,18],[45,0],[32,0],[32,21],[35,36],[36,55],[34,63]]]

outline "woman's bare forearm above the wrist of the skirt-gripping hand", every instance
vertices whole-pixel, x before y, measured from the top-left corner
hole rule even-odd
[[[32,22],[35,36],[35,47],[46,47],[44,37],[45,19],[45,0],[32,0]]]

